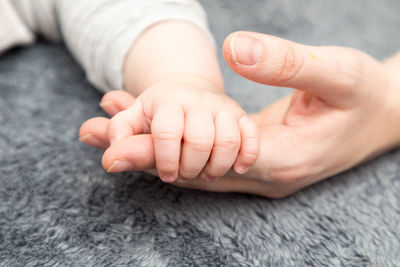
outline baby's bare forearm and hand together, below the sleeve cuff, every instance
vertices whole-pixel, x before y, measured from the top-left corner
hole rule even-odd
[[[124,82],[139,96],[111,120],[111,143],[151,133],[164,181],[210,180],[232,166],[244,173],[257,159],[257,128],[224,94],[214,47],[197,26],[171,20],[146,30],[126,58]],[[125,163],[114,158],[108,170],[117,172]]]

